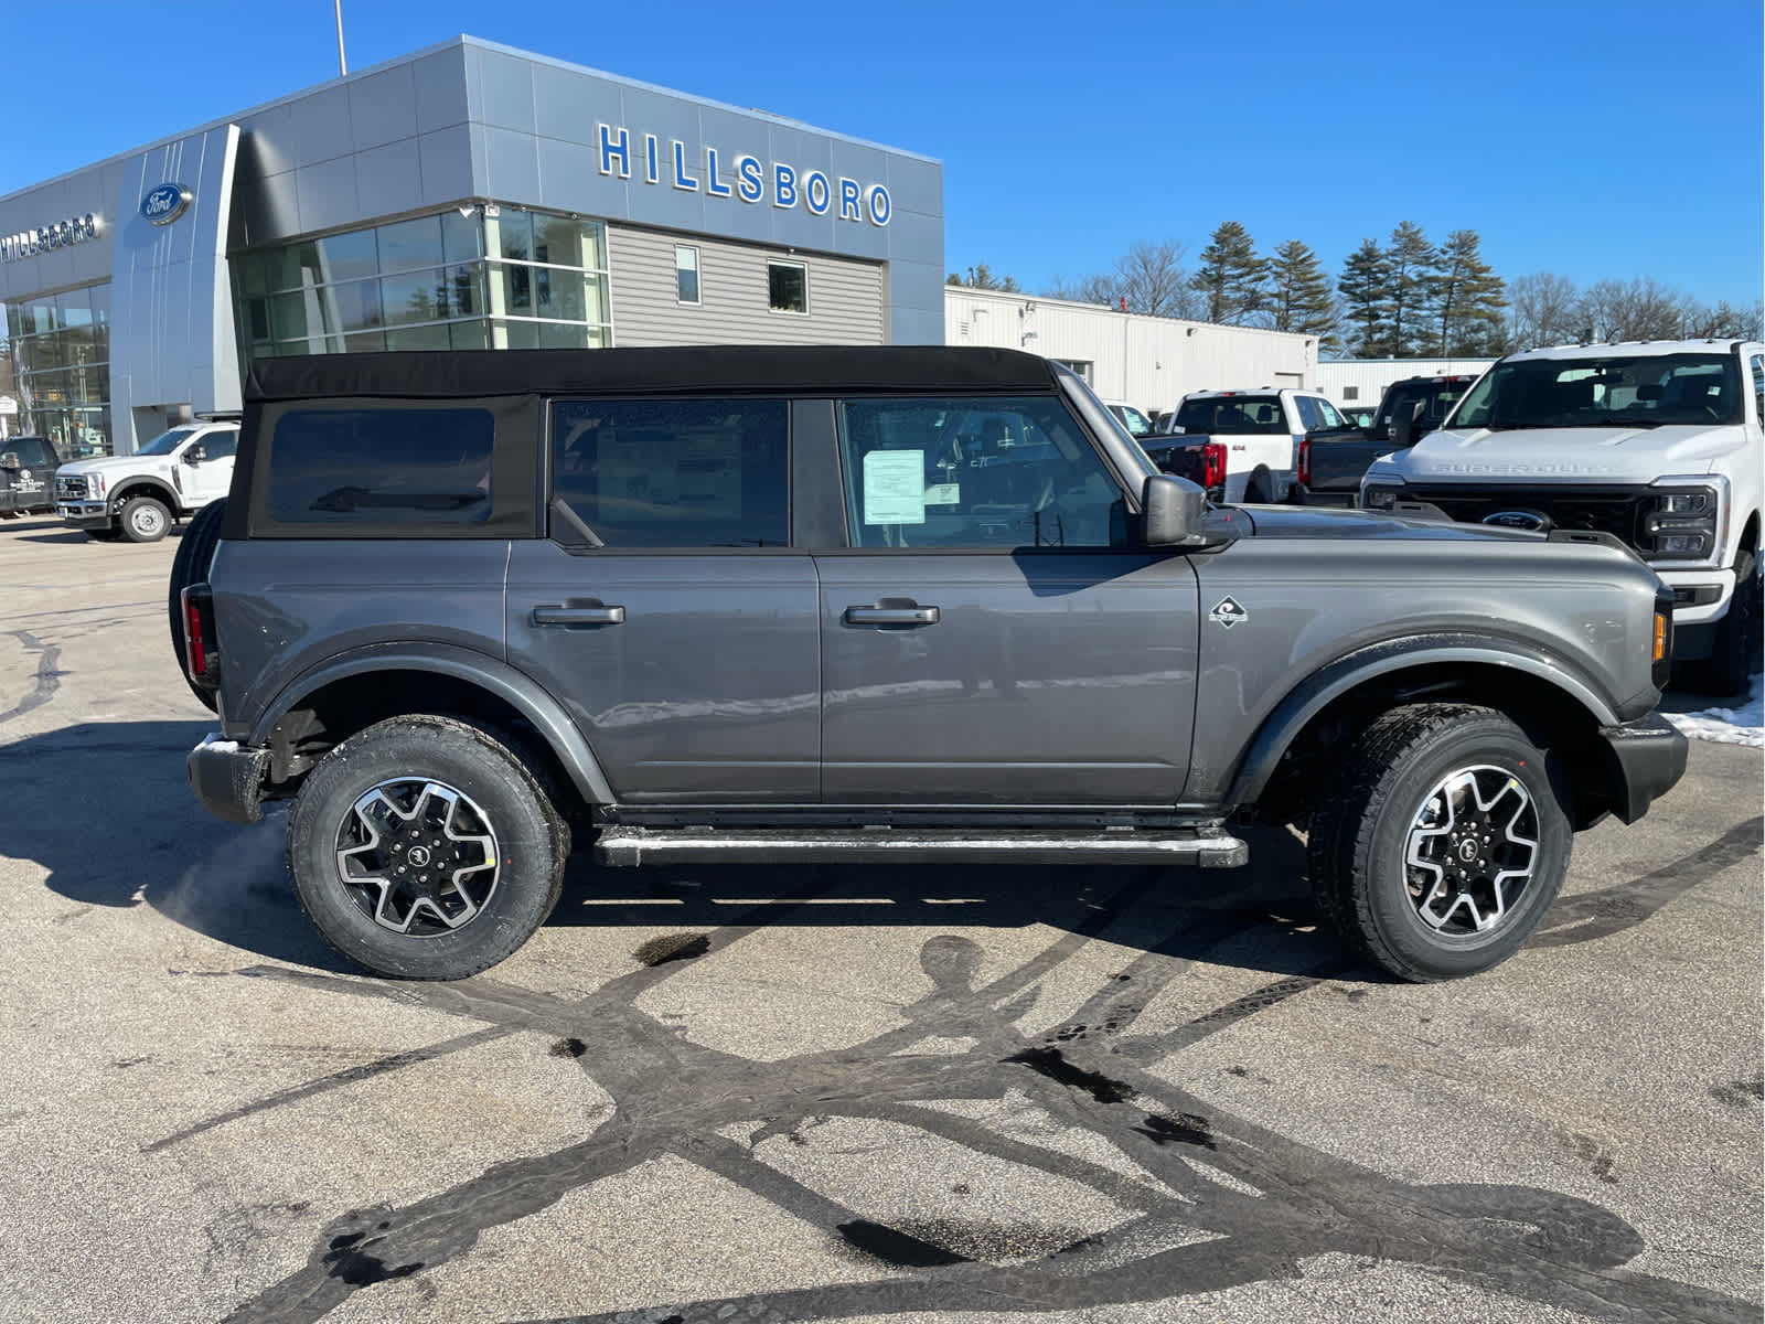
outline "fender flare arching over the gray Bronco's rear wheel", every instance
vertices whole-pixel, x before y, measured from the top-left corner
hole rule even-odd
[[[249,743],[267,745],[275,724],[314,690],[372,671],[427,671],[494,694],[533,724],[588,803],[612,803],[612,786],[563,704],[507,662],[455,644],[369,644],[328,657],[282,687],[252,724]]]

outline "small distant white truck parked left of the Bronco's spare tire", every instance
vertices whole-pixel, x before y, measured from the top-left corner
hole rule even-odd
[[[55,512],[94,542],[159,542],[233,485],[238,424],[173,427],[132,455],[106,455],[55,471]]]

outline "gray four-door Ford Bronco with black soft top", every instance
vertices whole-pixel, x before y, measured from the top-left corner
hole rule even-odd
[[[1442,980],[1686,766],[1671,593],[1615,538],[1209,507],[1033,355],[328,355],[245,401],[173,570],[189,779],[293,800],[302,906],[381,974],[510,955],[572,840],[1213,869],[1262,819]]]

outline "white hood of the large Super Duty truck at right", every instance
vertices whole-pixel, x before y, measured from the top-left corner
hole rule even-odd
[[[1712,461],[1746,445],[1737,424],[1698,427],[1516,427],[1430,433],[1386,459],[1410,482],[1622,482],[1668,473],[1709,473]]]

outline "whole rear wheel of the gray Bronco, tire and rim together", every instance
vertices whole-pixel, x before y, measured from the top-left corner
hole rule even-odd
[[[568,828],[491,733],[394,717],[327,754],[288,817],[307,918],[395,980],[462,980],[533,936],[563,886]]]

